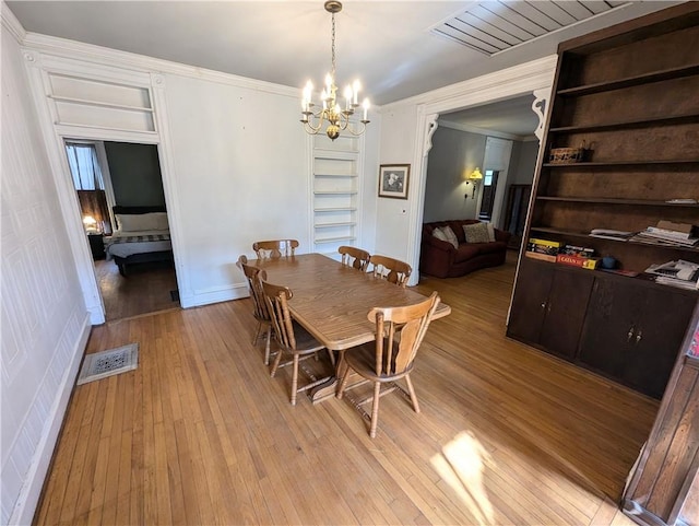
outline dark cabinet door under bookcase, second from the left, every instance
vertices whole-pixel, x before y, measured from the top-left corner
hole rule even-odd
[[[546,350],[576,358],[593,281],[591,271],[556,269],[540,337]]]

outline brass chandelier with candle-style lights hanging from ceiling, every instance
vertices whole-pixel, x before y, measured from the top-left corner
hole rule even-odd
[[[350,118],[354,115],[355,108],[359,107],[357,102],[362,85],[355,80],[352,85],[347,85],[343,92],[345,104],[344,108],[337,102],[337,86],[335,85],[335,13],[342,11],[342,2],[337,0],[328,0],[325,2],[325,11],[332,15],[332,63],[330,73],[325,75],[325,86],[320,95],[322,101],[322,109],[313,112],[316,106],[311,96],[313,93],[313,84],[308,81],[304,89],[304,98],[301,100],[301,122],[306,132],[310,135],[319,133],[325,122],[325,133],[333,141],[340,137],[341,131],[348,131],[353,136],[360,136],[366,130],[369,112],[369,100],[365,98],[362,107],[364,108],[363,118],[359,120],[360,126],[355,129],[354,124],[350,122]]]

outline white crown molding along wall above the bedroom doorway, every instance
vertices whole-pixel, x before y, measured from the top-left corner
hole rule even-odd
[[[170,60],[147,57],[145,55],[120,51],[93,44],[42,35],[39,33],[26,33],[23,44],[25,47],[44,54],[92,62],[99,66],[120,67],[143,72],[170,73],[274,95],[293,98],[300,97],[300,90],[296,87],[273,84],[271,82],[248,79],[247,77],[239,77],[205,68],[197,68]]]

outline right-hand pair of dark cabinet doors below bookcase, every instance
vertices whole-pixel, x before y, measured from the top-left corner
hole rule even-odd
[[[641,393],[663,394],[695,296],[630,279],[596,279],[578,361]]]

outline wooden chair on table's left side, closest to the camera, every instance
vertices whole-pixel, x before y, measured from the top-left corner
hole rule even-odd
[[[292,365],[292,389],[291,389],[291,402],[292,406],[296,405],[296,395],[322,384],[330,379],[330,375],[322,378],[317,378],[316,375],[304,369],[306,375],[310,378],[310,383],[299,387],[298,386],[298,370],[299,363],[303,360],[315,356],[318,360],[318,351],[325,349],[310,332],[308,332],[298,323],[292,319],[292,315],[288,309],[288,301],[294,296],[292,290],[287,287],[275,285],[262,280],[262,291],[264,292],[264,299],[266,301],[268,312],[272,318],[272,325],[274,330],[274,338],[280,347],[280,351],[276,354],[270,376],[274,377],[279,367]],[[291,354],[292,359],[282,362],[283,354]],[[335,355],[329,349],[328,355],[333,366],[335,367]]]

